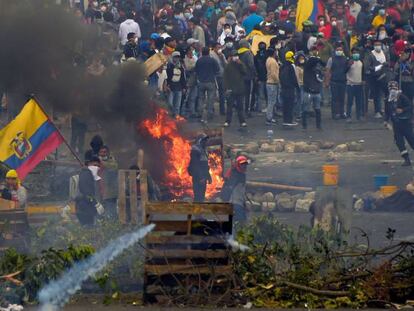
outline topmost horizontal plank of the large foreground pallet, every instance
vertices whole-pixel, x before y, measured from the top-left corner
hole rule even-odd
[[[230,203],[149,202],[147,214],[233,215]]]

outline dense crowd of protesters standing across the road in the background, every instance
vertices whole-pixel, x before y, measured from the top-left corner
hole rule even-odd
[[[164,96],[174,116],[208,123],[217,99],[225,127],[236,110],[241,127],[257,113],[269,126],[282,117],[284,126],[300,121],[304,129],[314,115],[321,129],[323,105],[330,106],[334,120],[352,122],[368,117],[372,102],[373,117],[382,119],[390,81],[397,81],[411,103],[412,2],[321,3],[317,19],[300,24],[296,1],[81,5],[75,0],[72,5],[85,23],[99,24],[116,41],[120,61],[145,61],[155,53],[168,57],[149,77],[149,86]],[[271,39],[260,41],[266,36]]]

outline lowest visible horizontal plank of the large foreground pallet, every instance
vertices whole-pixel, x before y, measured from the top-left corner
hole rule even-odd
[[[145,265],[145,273],[154,275],[165,274],[227,274],[232,271],[231,266],[185,266],[185,265]]]

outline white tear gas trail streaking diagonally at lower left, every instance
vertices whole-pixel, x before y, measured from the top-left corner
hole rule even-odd
[[[69,298],[81,288],[84,281],[105,268],[115,257],[145,237],[154,227],[154,224],[150,224],[111,241],[108,246],[92,257],[75,264],[58,280],[43,287],[39,292],[40,310],[57,310],[65,305]]]

